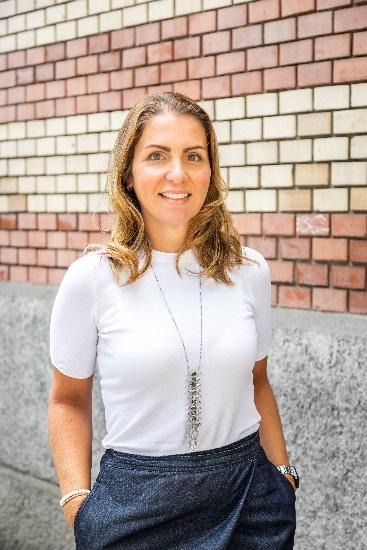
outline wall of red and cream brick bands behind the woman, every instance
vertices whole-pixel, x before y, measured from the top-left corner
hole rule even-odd
[[[0,15],[1,279],[58,284],[103,240],[117,130],[174,90],[214,121],[273,305],[367,312],[367,1],[3,0]]]

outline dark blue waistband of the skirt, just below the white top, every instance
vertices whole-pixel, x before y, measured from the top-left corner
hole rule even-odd
[[[158,470],[191,470],[218,468],[252,460],[261,449],[260,433],[257,429],[252,434],[214,449],[192,451],[172,455],[141,455],[106,449],[104,456],[111,460],[114,466],[123,468],[135,467]]]

